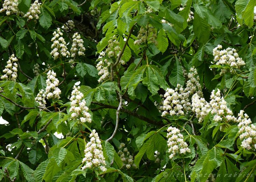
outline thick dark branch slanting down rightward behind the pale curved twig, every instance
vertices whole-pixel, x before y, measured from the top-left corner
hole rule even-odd
[[[98,103],[98,102],[94,102],[94,101],[92,101],[91,104],[97,104],[99,106],[104,106],[104,107],[110,108],[110,109],[116,109],[116,110],[118,109],[117,106],[112,106],[112,105],[108,105],[108,104]],[[143,115],[137,114],[136,112],[130,111],[128,109],[121,108],[120,111],[122,111],[124,113],[127,113],[127,114],[130,114],[130,115],[132,115],[134,117],[137,117],[140,120],[143,120],[143,121],[145,121],[147,123],[150,123],[150,124],[153,124],[153,125],[157,125],[157,126],[160,126],[160,127],[165,126],[165,124],[163,124],[162,122],[157,122],[155,120],[151,120],[151,119],[149,119],[149,118],[147,118],[147,117],[145,117]]]

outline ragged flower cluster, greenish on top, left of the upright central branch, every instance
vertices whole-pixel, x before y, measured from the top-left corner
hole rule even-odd
[[[105,52],[101,52],[100,56],[98,57],[99,63],[97,64],[96,68],[99,71],[98,75],[101,76],[98,81],[99,83],[105,79],[109,78],[109,66],[111,65],[109,59],[115,61],[119,54],[121,53],[121,48],[119,47],[119,42],[116,40],[116,37],[113,36],[112,39],[108,42],[108,48]],[[123,57],[123,55],[122,55]],[[120,67],[120,64],[124,65],[125,61],[121,59],[117,65],[117,68]]]

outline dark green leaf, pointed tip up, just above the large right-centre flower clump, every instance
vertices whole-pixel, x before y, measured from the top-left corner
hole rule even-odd
[[[173,70],[169,76],[169,81],[174,87],[176,87],[177,84],[180,84],[181,86],[183,86],[185,83],[182,66],[181,66],[179,59],[177,59],[177,57],[176,57],[176,61],[174,63]]]

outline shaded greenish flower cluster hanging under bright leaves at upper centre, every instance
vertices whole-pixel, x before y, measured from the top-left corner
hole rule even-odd
[[[146,25],[146,28],[143,28],[143,27],[140,28],[139,34],[137,36],[137,40],[134,41],[134,44],[140,45],[150,41],[151,43],[157,46],[158,42],[156,39],[157,39],[156,29],[149,24],[149,25]]]

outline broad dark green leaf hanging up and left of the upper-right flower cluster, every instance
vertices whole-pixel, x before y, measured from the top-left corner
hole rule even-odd
[[[207,23],[206,19],[201,18],[197,13],[195,13],[193,20],[193,31],[198,37],[199,42],[206,43],[210,36],[211,27]]]

